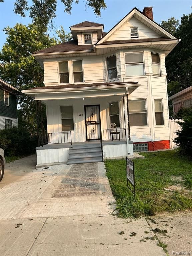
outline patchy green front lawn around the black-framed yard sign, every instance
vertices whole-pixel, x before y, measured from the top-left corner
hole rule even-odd
[[[136,197],[127,188],[126,160],[106,160],[119,217],[192,209],[192,161],[177,150],[141,153],[134,159]],[[171,189],[166,191],[165,189]]]

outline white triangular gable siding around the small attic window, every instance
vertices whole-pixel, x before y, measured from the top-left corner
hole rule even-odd
[[[139,38],[158,38],[161,37],[149,27],[138,21],[135,17],[131,18],[128,22],[124,23],[118,30],[116,30],[107,41],[113,40],[128,40],[131,39],[131,27],[138,28]]]

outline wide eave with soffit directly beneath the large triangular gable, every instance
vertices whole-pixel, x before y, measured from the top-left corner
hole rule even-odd
[[[180,39],[173,39],[173,40],[163,40],[163,41],[156,41],[156,42],[134,42],[134,43],[116,43],[116,44],[96,44],[96,53],[98,55],[106,54],[113,49],[116,50],[123,50],[123,49],[132,49],[132,48],[151,48],[165,52],[165,56],[167,56],[173,48],[180,42]]]

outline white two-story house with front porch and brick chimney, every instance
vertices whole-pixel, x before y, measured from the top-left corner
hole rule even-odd
[[[45,86],[22,91],[46,105],[37,165],[170,148],[165,57],[179,40],[152,7],[134,8],[107,33],[89,21],[70,29],[72,41],[33,54]]]

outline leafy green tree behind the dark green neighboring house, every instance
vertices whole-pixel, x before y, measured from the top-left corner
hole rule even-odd
[[[4,31],[7,34],[7,42],[0,51],[0,61],[5,65],[5,68],[1,69],[1,78],[19,90],[43,86],[43,70],[31,54],[55,45],[56,40],[39,32],[35,24],[16,24],[13,28],[5,28]],[[18,107],[19,125],[34,131],[34,100],[24,95],[19,96]]]

